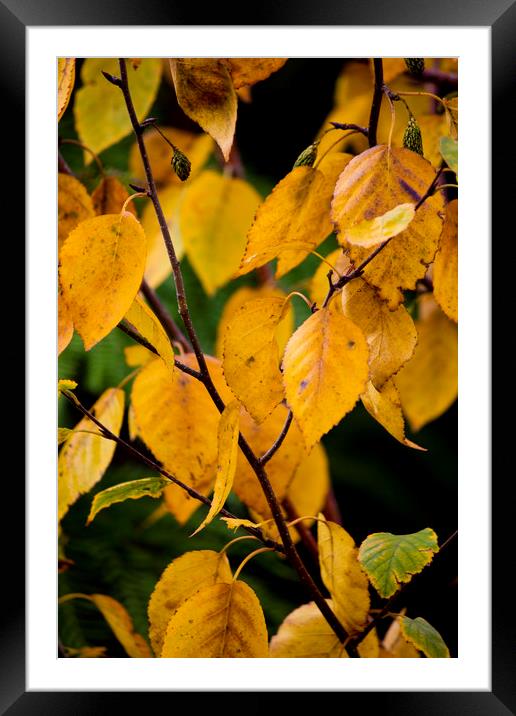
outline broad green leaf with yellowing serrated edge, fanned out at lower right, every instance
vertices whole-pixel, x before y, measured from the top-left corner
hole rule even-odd
[[[378,594],[387,598],[430,564],[438,551],[437,535],[430,527],[410,535],[376,532],[362,542],[358,559]]]

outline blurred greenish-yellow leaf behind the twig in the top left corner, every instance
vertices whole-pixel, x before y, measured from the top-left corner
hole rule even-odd
[[[82,87],[74,103],[75,128],[79,139],[96,154],[123,139],[132,131],[124,97],[118,87],[110,84],[102,72],[119,76],[117,59],[87,58],[81,68]],[[156,98],[161,79],[161,61],[142,59],[138,70],[127,64],[129,89],[136,115],[145,119]],[[91,162],[84,153],[84,162]]]

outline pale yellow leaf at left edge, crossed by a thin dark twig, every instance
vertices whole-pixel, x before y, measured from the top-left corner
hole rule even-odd
[[[124,416],[124,391],[108,388],[97,400],[91,411],[112,433],[118,435]],[[89,430],[90,433],[74,432],[66,441],[58,460],[58,519],[66,514],[80,495],[91,490],[107,470],[116,443],[100,435],[100,430],[84,417],[74,431]]]

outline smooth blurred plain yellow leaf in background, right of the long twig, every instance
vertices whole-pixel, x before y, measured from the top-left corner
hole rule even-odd
[[[181,239],[209,295],[236,274],[260,201],[257,191],[243,179],[212,170],[185,187],[179,207]]]

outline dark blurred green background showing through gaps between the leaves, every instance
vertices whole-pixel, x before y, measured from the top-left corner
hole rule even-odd
[[[277,73],[252,88],[252,102],[239,103],[236,140],[246,171],[246,178],[262,196],[287,174],[302,149],[313,141],[332,107],[335,81],[342,70],[342,59],[293,59]],[[74,92],[80,87],[80,62]],[[73,124],[72,96],[59,123],[61,138],[76,138]],[[198,131],[181,112],[169,82],[161,88],[150,113],[158,123]],[[122,181],[130,180],[129,150],[132,137],[104,151],[100,157],[110,173]],[[72,171],[88,190],[98,183],[95,162],[85,168],[82,151],[63,145],[62,154]],[[212,160],[213,166],[217,166]],[[139,211],[141,211],[141,200]],[[323,255],[335,247],[331,237],[318,250]],[[288,290],[302,289],[319,264],[314,256],[280,281]],[[188,303],[194,325],[207,353],[213,353],[217,324],[227,299],[238,286],[253,284],[246,276],[225,286],[209,298],[188,259],[182,259]],[[172,279],[158,289],[158,295],[177,317]],[[301,301],[293,303],[296,322],[308,315]],[[74,336],[59,358],[59,378],[73,378],[83,404],[92,405],[100,393],[116,386],[129,372],[123,349],[131,340],[121,331],[113,331],[85,353],[81,340]],[[129,396],[130,388],[126,388]],[[442,543],[457,527],[457,406],[452,406],[438,420],[417,434],[417,442],[428,452],[404,447],[357,405],[342,423],[334,428],[323,444],[327,450],[335,495],[342,513],[343,525],[360,543],[371,532],[415,532],[432,527]],[[65,401],[59,401],[59,425],[73,427],[80,419]],[[127,438],[127,425],[122,436]],[[411,436],[414,437],[414,436]],[[145,449],[141,443],[139,448]],[[111,485],[148,476],[146,469],[117,450],[112,465],[92,492],[73,505],[62,522],[63,548],[72,562],[59,575],[59,593],[86,592],[108,594],[129,610],[137,631],[147,635],[147,602],[154,585],[169,562],[191,549],[220,549],[233,534],[215,520],[191,540],[189,535],[199,524],[205,508],[179,526],[170,514],[152,523],[149,517],[158,502],[151,498],[129,500],[103,511],[86,527],[92,496]],[[246,514],[234,496],[228,509]],[[235,568],[252,547],[241,542],[230,549]],[[300,547],[310,564],[310,555]],[[457,557],[456,544],[435,559],[406,590],[408,616],[423,616],[443,635],[452,656],[457,654]],[[275,555],[255,558],[244,569],[242,578],[258,594],[263,605],[270,635],[296,606],[308,601],[295,573]],[[373,602],[374,602],[373,594]],[[373,606],[375,604],[373,603]],[[74,600],[60,607],[60,640],[67,647],[107,646],[107,655],[124,656],[125,652],[96,608],[84,600]]]

